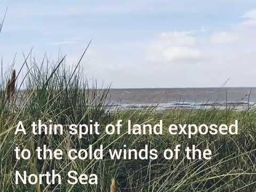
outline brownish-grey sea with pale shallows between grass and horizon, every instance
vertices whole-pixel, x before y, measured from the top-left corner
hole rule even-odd
[[[248,99],[250,108],[256,103],[256,87],[111,89],[110,95],[111,101],[123,109],[156,105],[158,110],[226,108],[227,105],[243,110],[248,108]]]

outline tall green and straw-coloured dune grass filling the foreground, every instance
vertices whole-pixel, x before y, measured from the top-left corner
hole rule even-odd
[[[78,65],[69,69],[60,59],[54,67],[47,58],[38,65],[25,62],[24,77],[18,71],[16,91],[11,102],[6,97],[6,82],[13,66],[1,72],[0,84],[0,190],[1,191],[109,191],[111,179],[116,179],[116,191],[255,191],[256,190],[256,111],[234,110],[179,110],[155,111],[154,109],[111,110],[108,89],[89,86]],[[26,90],[26,91],[24,91]],[[79,139],[67,131],[63,135],[33,135],[30,124],[41,119],[44,123],[68,125],[87,124],[90,119],[100,123],[100,135]],[[103,127],[123,119],[120,135],[106,135]],[[156,123],[163,119],[164,127],[175,124],[230,124],[239,120],[239,135],[195,135],[188,139],[181,135],[127,135],[127,119],[133,123]],[[27,134],[14,135],[15,127],[22,121]],[[166,128],[167,129],[167,128]],[[167,132],[167,130],[165,130]],[[185,153],[179,159],[167,161],[163,150],[180,144],[181,149],[196,145],[213,151],[210,160],[188,160]],[[93,145],[107,149],[141,149],[145,145],[158,150],[159,158],[150,160],[124,160],[105,158],[70,161],[63,156],[61,161],[40,161],[33,155],[29,160],[17,161],[14,148],[20,146],[35,153],[37,146],[61,149],[63,154],[71,148],[81,149]],[[62,185],[15,185],[15,170],[29,173],[45,173],[55,170],[62,175]],[[67,172],[96,173],[98,185],[69,185]]]

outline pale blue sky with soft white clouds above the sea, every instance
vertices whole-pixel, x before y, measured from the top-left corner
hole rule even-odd
[[[255,0],[1,0],[0,56],[67,55],[112,88],[256,86]]]

